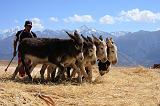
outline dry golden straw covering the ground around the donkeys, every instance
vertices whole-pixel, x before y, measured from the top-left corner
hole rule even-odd
[[[1,63],[2,64],[2,63]],[[12,64],[7,73],[0,65],[0,105],[27,106],[159,106],[160,70],[144,67],[113,67],[100,77],[94,71],[93,84],[52,83],[31,84],[17,78],[9,79],[15,69]],[[33,76],[39,76],[37,67]]]

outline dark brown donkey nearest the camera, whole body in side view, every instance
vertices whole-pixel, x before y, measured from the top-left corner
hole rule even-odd
[[[77,68],[75,62],[82,61],[83,40],[78,33],[74,35],[66,32],[71,39],[55,38],[26,38],[18,50],[21,53],[22,64],[25,66],[26,74],[32,80],[29,69],[33,69],[37,64],[55,64],[64,72],[65,66]],[[26,61],[31,60],[31,68],[26,65]],[[78,69],[76,69],[78,71]],[[18,72],[14,72],[14,77]],[[79,77],[80,74],[78,72]]]

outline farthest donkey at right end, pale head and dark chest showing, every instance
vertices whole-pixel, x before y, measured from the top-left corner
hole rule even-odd
[[[108,73],[111,65],[115,65],[118,62],[117,46],[113,39],[106,38],[106,44],[108,60],[106,62],[98,62],[98,69],[101,76],[103,76],[105,73]]]

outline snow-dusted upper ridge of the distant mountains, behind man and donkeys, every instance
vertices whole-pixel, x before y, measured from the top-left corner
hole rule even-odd
[[[9,36],[13,36],[15,35],[15,33],[18,30],[21,30],[22,28],[20,27],[16,27],[13,29],[9,29],[6,31],[3,31],[3,33],[0,33],[0,40],[5,39]],[[83,34],[84,36],[92,36],[95,35],[97,37],[99,37],[100,35],[102,35],[103,37],[107,37],[107,36],[113,36],[112,34],[105,32],[105,31],[100,31],[97,30],[95,28],[91,28],[88,27],[86,25],[83,25],[77,29],[80,34]],[[65,33],[65,31],[69,31],[69,32],[73,32],[74,30],[52,30],[52,29],[45,29],[43,31],[35,31],[35,33],[38,35],[38,37],[46,37],[46,38],[68,38],[67,34]]]

